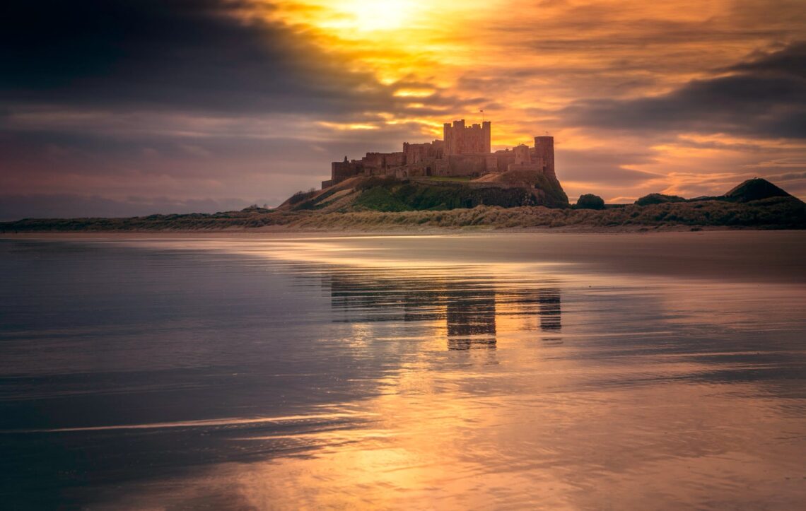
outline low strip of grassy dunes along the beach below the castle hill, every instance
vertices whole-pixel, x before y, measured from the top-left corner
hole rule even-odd
[[[472,209],[255,210],[216,214],[155,214],[132,218],[41,218],[0,222],[0,234],[90,232],[394,232],[463,231],[652,232],[806,229],[806,205],[796,197],[758,201],[687,201],[605,210],[545,206]]]

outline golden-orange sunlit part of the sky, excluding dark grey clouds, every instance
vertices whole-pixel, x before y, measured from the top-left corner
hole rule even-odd
[[[613,133],[606,126],[580,127],[565,111],[585,101],[629,108],[631,100],[663,98],[692,81],[731,77],[737,63],[804,35],[798,2],[312,0],[272,6],[268,19],[309,36],[348,69],[371,73],[395,97],[410,99],[327,127],[383,130],[413,123],[423,135],[439,137],[443,122],[475,121],[484,110],[496,147],[546,131],[555,135],[560,177],[563,152],[623,155],[615,169],[642,182],[629,188],[621,179],[609,183],[605,162],[600,176],[578,172],[573,181],[563,179],[569,191],[593,190],[609,200],[658,189],[721,193],[741,179],[737,173],[806,168],[802,140],[694,126]],[[748,157],[750,151],[768,157]],[[792,153],[800,156],[787,157]]]

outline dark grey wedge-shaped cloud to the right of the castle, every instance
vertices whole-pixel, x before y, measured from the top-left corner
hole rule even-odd
[[[562,115],[571,125],[617,130],[806,138],[806,44],[729,70],[659,97],[577,102]]]

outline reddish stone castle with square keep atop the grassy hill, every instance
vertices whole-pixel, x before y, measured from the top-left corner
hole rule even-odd
[[[542,172],[556,179],[554,137],[534,137],[534,147],[521,144],[513,150],[491,152],[492,123],[465,126],[464,119],[445,123],[442,140],[428,143],[403,143],[402,152],[368,152],[360,160],[334,161],[330,180],[322,188],[354,176],[409,177],[481,177],[511,170]]]

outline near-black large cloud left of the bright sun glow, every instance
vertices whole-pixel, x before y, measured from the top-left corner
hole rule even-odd
[[[243,2],[241,2],[243,3]],[[0,6],[6,102],[343,114],[392,91],[304,36],[226,0],[39,0]]]

